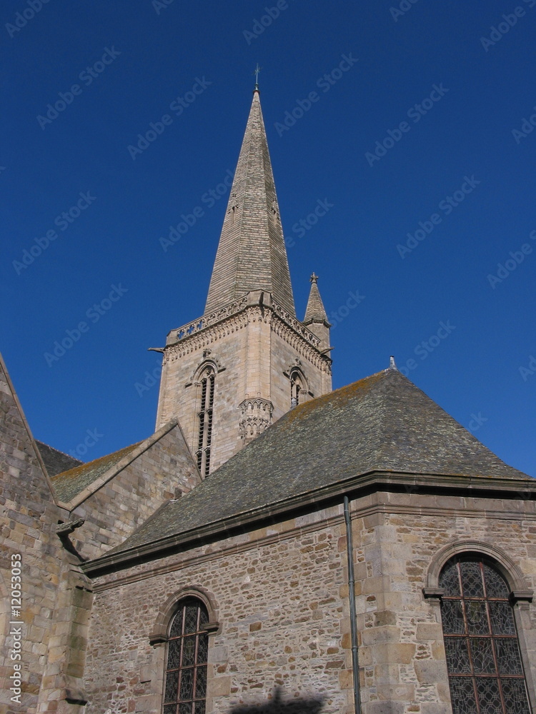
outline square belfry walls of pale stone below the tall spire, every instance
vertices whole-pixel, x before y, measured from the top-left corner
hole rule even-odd
[[[209,316],[207,326],[200,329],[204,323],[192,323],[191,333],[186,331],[176,343],[169,342],[162,368],[157,428],[177,417],[195,453],[200,405],[197,374],[204,363],[214,366],[211,472],[251,440],[249,431],[244,438],[244,416],[250,417],[249,427],[253,424],[253,430],[260,433],[289,410],[290,384],[285,374],[289,365],[297,360],[302,363],[314,396],[331,391],[329,362],[304,337],[310,337],[309,331],[275,306],[269,293],[252,291],[236,307],[237,311],[225,313],[219,321]],[[316,338],[312,340],[317,343]],[[262,400],[260,406],[253,403],[257,399]]]

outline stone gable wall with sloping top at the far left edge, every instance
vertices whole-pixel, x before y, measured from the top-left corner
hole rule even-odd
[[[0,712],[74,714],[80,707],[66,703],[66,686],[81,687],[85,648],[79,648],[75,655],[69,640],[69,605],[76,586],[71,578],[71,556],[61,548],[55,532],[56,523],[66,519],[66,512],[54,503],[31,433],[1,364],[0,473],[0,590],[4,599],[0,615]],[[19,585],[16,581],[11,587],[12,563],[21,565],[20,618],[11,611],[11,603],[18,604],[18,598],[11,599],[11,592]],[[80,573],[75,575],[78,585],[86,582]],[[62,603],[60,591],[64,593]],[[19,700],[16,688],[11,690],[14,665],[21,665]]]

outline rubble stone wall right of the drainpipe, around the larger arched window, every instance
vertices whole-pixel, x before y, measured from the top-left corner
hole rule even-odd
[[[375,504],[375,508],[374,508]],[[438,600],[423,596],[432,558],[479,540],[506,553],[535,588],[535,504],[418,493],[377,494],[353,521],[363,714],[451,714]],[[391,511],[391,513],[389,513]],[[535,605],[515,606],[536,674]],[[530,613],[525,608],[530,609]]]

